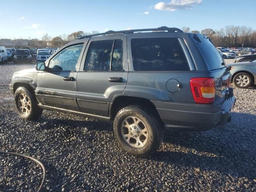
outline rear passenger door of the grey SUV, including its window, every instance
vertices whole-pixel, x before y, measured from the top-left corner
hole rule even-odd
[[[82,112],[108,116],[114,95],[124,92],[128,78],[124,35],[91,38],[77,76],[77,101]]]

